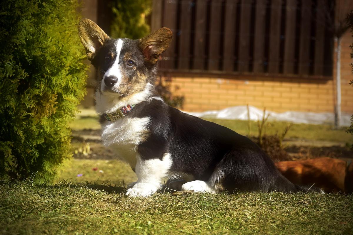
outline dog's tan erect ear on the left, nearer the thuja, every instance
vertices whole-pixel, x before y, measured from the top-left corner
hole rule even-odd
[[[89,60],[93,59],[95,53],[109,39],[109,36],[96,23],[89,19],[80,20],[78,35],[82,45],[86,49],[86,55]]]

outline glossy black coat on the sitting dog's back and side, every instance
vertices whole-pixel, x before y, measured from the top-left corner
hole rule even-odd
[[[231,129],[180,112],[157,99],[139,103],[128,115],[150,117],[148,138],[138,145],[138,152],[146,160],[162,160],[164,153],[170,153],[170,171],[207,181],[220,169],[225,173],[220,183],[230,192],[309,189],[289,182],[258,145]]]

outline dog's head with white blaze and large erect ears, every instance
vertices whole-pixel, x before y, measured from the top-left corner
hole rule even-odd
[[[172,40],[169,28],[137,40],[113,39],[89,19],[80,20],[78,32],[88,59],[97,69],[98,91],[125,100],[153,87],[158,57]]]

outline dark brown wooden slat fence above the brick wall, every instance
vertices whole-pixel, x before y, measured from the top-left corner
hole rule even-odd
[[[154,0],[152,30],[168,27],[174,35],[160,68],[331,76],[330,4],[332,0]]]

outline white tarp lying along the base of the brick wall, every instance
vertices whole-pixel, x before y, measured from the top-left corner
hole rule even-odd
[[[217,119],[231,119],[231,120],[247,120],[247,108],[246,106],[235,106],[225,108],[222,110],[213,110],[205,112],[186,112],[190,115],[197,116],[199,118],[217,118]],[[249,106],[250,120],[257,121],[262,120],[263,110],[258,109],[254,106]],[[288,111],[284,113],[276,113],[266,111],[266,116],[269,114],[268,120],[275,121],[286,121],[293,123],[307,123],[307,124],[333,124],[334,113],[313,113],[313,112],[296,112]],[[342,114],[342,126],[351,125],[352,114]]]

